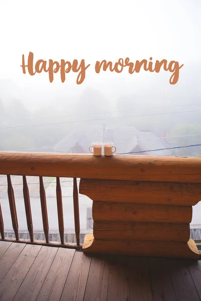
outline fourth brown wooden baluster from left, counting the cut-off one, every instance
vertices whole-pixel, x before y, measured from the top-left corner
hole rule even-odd
[[[43,185],[43,177],[39,177],[40,180],[40,198],[41,198],[41,211],[42,211],[42,219],[43,219],[43,230],[45,234],[46,243],[49,242],[49,225],[48,225],[48,216],[47,216],[47,205],[46,205],[46,196],[45,196],[45,188]]]

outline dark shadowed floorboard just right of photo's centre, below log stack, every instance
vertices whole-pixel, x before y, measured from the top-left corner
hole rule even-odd
[[[110,301],[129,301],[129,257],[112,256],[108,283],[108,298]],[[132,300],[132,299],[131,299]]]

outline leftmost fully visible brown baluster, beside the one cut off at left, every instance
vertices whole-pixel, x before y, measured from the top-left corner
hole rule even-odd
[[[12,224],[13,224],[13,230],[15,232],[16,240],[19,240],[18,217],[17,217],[15,196],[14,196],[14,191],[13,191],[10,175],[7,176],[7,181],[8,181],[8,196],[9,196],[9,205],[10,205],[10,210],[11,210],[11,219],[12,219]]]

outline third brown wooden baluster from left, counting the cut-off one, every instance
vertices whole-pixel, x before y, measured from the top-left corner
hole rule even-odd
[[[33,242],[34,241],[33,223],[32,223],[31,205],[30,205],[30,198],[29,198],[29,188],[27,185],[26,176],[23,176],[23,195],[24,195],[25,211],[26,211],[26,218],[27,218],[27,228],[29,231],[31,242]]]

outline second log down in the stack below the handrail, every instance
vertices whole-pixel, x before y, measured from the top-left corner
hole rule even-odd
[[[189,224],[192,207],[93,201],[92,215],[94,221]]]

